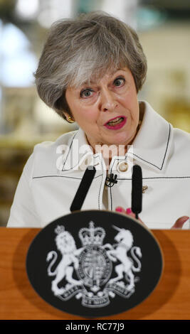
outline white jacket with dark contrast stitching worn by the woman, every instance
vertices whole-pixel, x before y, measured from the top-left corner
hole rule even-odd
[[[150,229],[169,229],[183,215],[190,217],[190,135],[174,129],[147,102],[141,128],[125,156],[114,156],[108,174],[117,174],[112,188],[101,153],[93,154],[82,129],[60,136],[55,142],[37,144],[23,168],[11,207],[8,227],[45,227],[70,213],[86,166],[93,158],[97,169],[82,210],[117,206],[131,208],[132,163],[142,168],[142,212]],[[128,169],[121,168],[127,162]],[[121,166],[122,164],[122,166]],[[123,170],[124,169],[124,170]],[[189,228],[187,222],[184,228]]]

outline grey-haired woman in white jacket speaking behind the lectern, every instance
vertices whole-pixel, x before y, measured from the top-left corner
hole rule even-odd
[[[35,146],[9,227],[44,227],[70,213],[92,163],[96,174],[82,210],[127,209],[133,215],[131,175],[137,163],[143,176],[142,221],[151,229],[189,228],[189,134],[138,101],[146,74],[137,34],[116,18],[94,12],[52,26],[35,75],[38,95],[79,130]],[[110,174],[117,183],[107,183]]]

